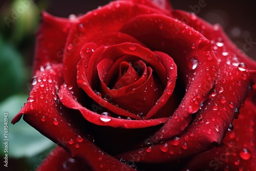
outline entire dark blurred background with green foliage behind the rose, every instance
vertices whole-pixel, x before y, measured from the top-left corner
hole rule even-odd
[[[25,1],[30,3],[23,10],[20,8],[20,3]],[[15,125],[10,123],[26,102],[31,90],[31,65],[40,11],[46,10],[55,16],[69,17],[70,14],[83,14],[109,2],[109,0],[2,0],[0,2],[0,129],[3,130],[2,114],[8,112],[10,139],[9,167],[1,170],[35,170],[54,147],[54,143],[41,136],[24,121]],[[174,9],[194,12],[211,24],[219,23],[239,49],[256,59],[256,10],[253,1],[173,0],[170,2]],[[20,10],[20,14],[13,14],[16,10]],[[10,20],[12,15],[15,19]],[[244,45],[248,41],[252,44],[246,51]],[[0,138],[3,144],[2,131]],[[0,148],[2,158],[5,154],[2,145]],[[3,162],[1,163],[0,168],[3,168]]]

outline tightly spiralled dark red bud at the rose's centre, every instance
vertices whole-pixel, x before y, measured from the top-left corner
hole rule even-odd
[[[106,79],[101,79],[107,89],[101,86],[99,91],[104,96],[110,95],[110,103],[143,118],[160,98],[163,86],[146,61],[135,56],[124,58],[130,60],[116,61]],[[98,74],[101,77],[100,70]]]

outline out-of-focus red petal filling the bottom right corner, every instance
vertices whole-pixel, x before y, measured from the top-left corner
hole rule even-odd
[[[252,99],[245,100],[240,118],[233,121],[233,131],[227,132],[220,146],[212,148],[189,160],[184,170],[255,170],[255,122],[256,106]]]

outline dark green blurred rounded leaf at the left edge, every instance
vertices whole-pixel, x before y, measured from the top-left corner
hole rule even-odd
[[[0,101],[20,92],[25,74],[22,56],[13,46],[4,43],[0,35]]]

